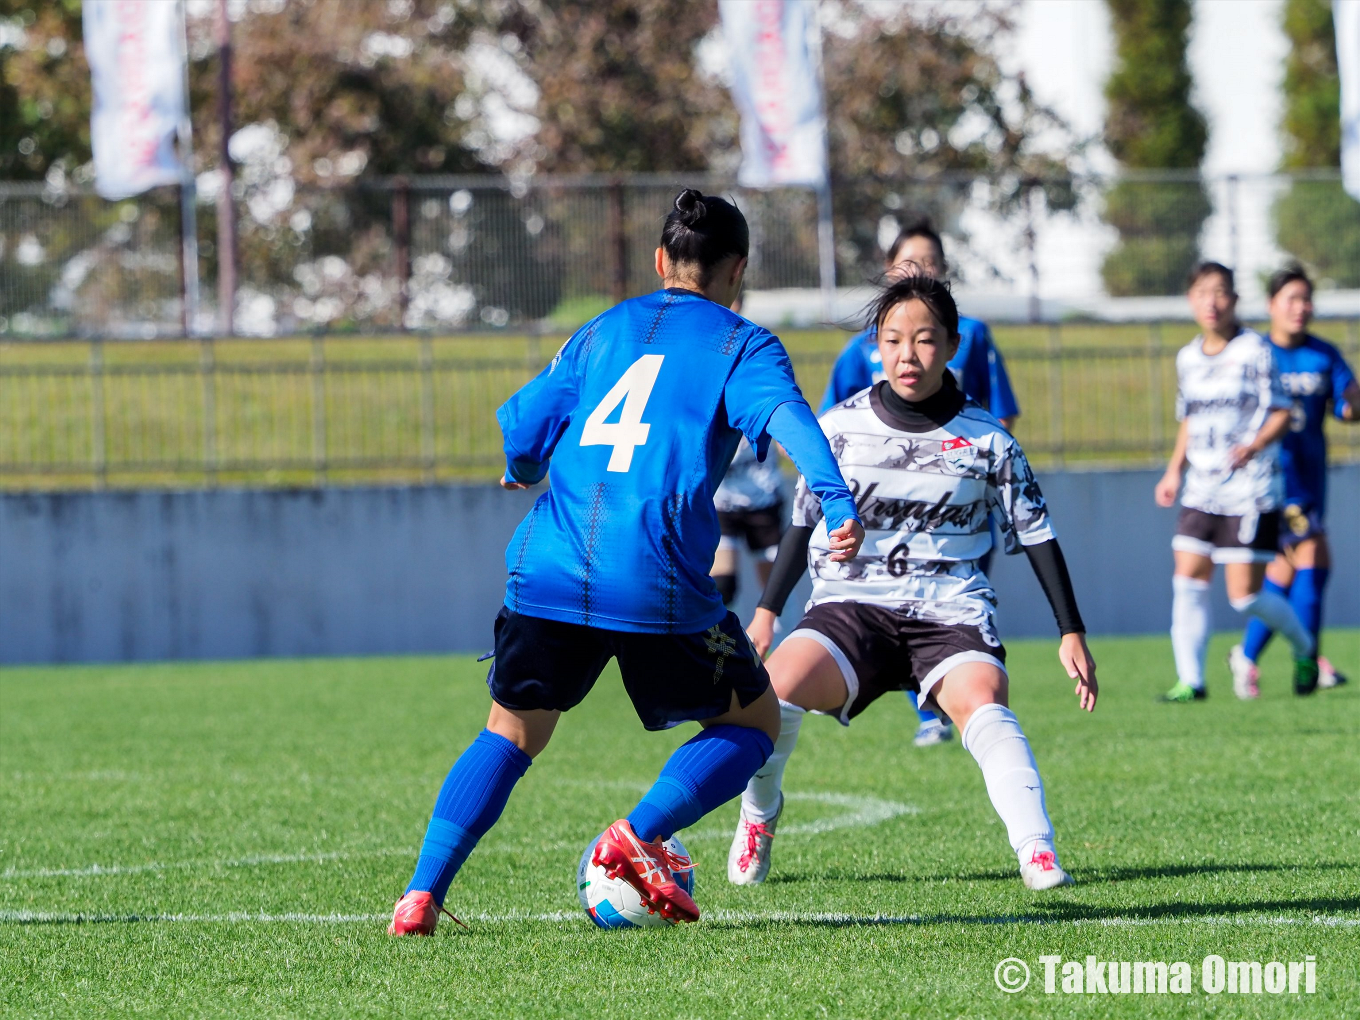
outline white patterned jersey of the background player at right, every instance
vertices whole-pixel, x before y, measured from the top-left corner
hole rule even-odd
[[[1289,408],[1270,341],[1243,329],[1210,356],[1197,336],[1176,354],[1176,420],[1189,423],[1182,506],[1228,517],[1277,509],[1280,443],[1229,466],[1232,447],[1251,442],[1272,411]]]

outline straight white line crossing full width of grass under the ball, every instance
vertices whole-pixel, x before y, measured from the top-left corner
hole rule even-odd
[[[555,910],[544,914],[530,914],[528,911],[507,914],[464,914],[464,921],[481,923],[549,923],[574,925],[585,923],[586,915],[579,910]],[[246,911],[233,911],[227,914],[73,914],[73,913],[42,913],[34,910],[5,910],[0,911],[0,923],[33,925],[33,923],[256,923],[256,925],[367,925],[389,921],[388,914],[252,914]],[[1360,928],[1360,918],[1352,917],[1270,917],[1263,914],[1210,914],[1205,917],[1163,917],[1163,918],[1076,918],[1072,921],[1025,917],[1025,915],[997,915],[997,917],[952,917],[952,915],[889,915],[889,914],[843,914],[817,913],[796,910],[710,910],[704,919],[717,923],[821,923],[840,925],[845,928],[876,925],[892,926],[947,926],[947,925],[1044,925],[1044,926],[1073,926],[1073,928],[1159,928],[1166,925],[1221,925],[1229,928],[1289,928],[1299,925],[1318,925],[1323,928]]]

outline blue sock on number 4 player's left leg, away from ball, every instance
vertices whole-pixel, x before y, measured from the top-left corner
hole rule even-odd
[[[484,729],[477,734],[439,787],[407,892],[432,892],[435,903],[443,903],[453,876],[500,817],[510,790],[532,763],[532,758],[499,733]]]

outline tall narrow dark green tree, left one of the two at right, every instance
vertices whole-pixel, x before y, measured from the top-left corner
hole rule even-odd
[[[1106,82],[1104,141],[1129,170],[1197,171],[1208,128],[1190,103],[1186,42],[1190,0],[1106,0],[1115,67]],[[1115,296],[1175,294],[1200,257],[1209,197],[1190,180],[1125,180],[1106,194],[1104,220],[1119,242],[1100,268]]]

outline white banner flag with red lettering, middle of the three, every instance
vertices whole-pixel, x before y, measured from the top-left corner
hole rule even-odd
[[[816,0],[719,0],[718,10],[741,114],[737,182],[824,186],[827,118]]]

